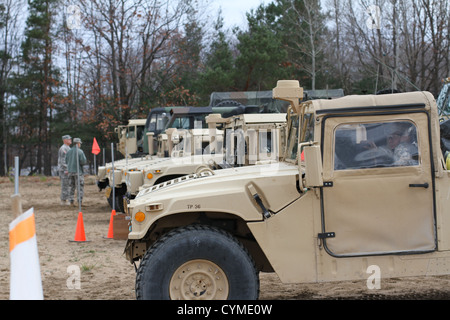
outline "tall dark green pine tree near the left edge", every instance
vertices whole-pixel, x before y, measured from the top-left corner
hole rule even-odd
[[[16,77],[18,108],[22,117],[26,116],[28,121],[31,119],[28,130],[30,142],[36,144],[36,170],[42,173],[44,168],[45,175],[51,175],[52,98],[58,86],[52,30],[57,4],[57,0],[28,1],[22,72]]]

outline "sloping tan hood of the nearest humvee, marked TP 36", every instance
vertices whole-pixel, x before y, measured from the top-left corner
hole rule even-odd
[[[295,188],[296,173],[297,166],[283,162],[205,171],[142,190],[130,202],[130,208],[145,210],[146,206],[162,204],[158,215],[223,212],[224,208],[241,215],[246,208],[246,218],[260,220],[262,209],[254,201],[255,193],[266,209],[277,212],[300,196]]]

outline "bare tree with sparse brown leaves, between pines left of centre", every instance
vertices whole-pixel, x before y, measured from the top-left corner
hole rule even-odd
[[[192,0],[74,0],[81,28],[70,41],[78,55],[87,120],[108,132],[139,113],[170,74],[172,40]],[[82,52],[80,54],[80,52]],[[75,60],[73,60],[75,61]],[[148,110],[148,108],[147,108]]]

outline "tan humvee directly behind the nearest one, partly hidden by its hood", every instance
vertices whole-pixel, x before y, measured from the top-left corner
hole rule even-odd
[[[194,152],[184,157],[146,164],[140,170],[129,170],[126,196],[133,199],[139,191],[146,192],[154,185],[189,174],[276,162],[282,157],[286,138],[285,113],[241,114],[229,118],[211,114],[206,117],[206,122],[209,129],[194,129],[193,134],[188,134],[183,141],[186,145],[199,144],[195,131],[200,130],[203,131],[202,136],[211,137],[208,140],[209,148],[185,147],[183,153],[186,150]],[[218,126],[221,129],[219,131]]]

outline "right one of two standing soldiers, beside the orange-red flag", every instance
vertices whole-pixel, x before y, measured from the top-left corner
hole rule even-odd
[[[84,195],[84,173],[83,173],[83,165],[86,164],[86,156],[84,155],[83,150],[81,150],[81,139],[75,138],[73,139],[73,143],[75,144],[68,152],[67,152],[67,169],[69,171],[69,200],[70,204],[74,204],[74,196],[75,189],[77,188],[78,180],[80,181],[80,194],[78,195],[80,204],[83,201]],[[78,154],[77,154],[78,148]],[[77,169],[77,157],[79,167]]]

